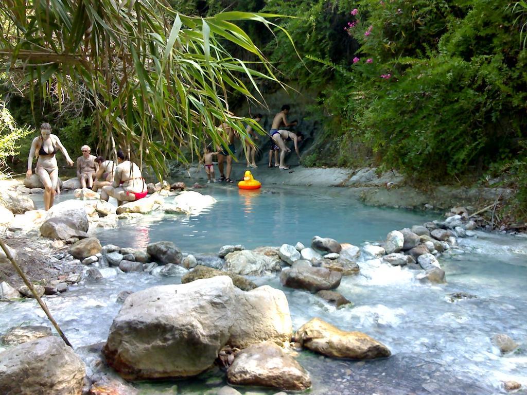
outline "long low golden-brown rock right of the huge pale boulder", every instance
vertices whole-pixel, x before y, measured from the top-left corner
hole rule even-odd
[[[319,318],[302,325],[295,341],[327,357],[375,359],[391,356],[390,350],[362,332],[347,332]]]

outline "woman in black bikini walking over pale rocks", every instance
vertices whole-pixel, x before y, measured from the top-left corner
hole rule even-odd
[[[35,137],[31,143],[30,155],[27,158],[27,173],[26,177],[31,177],[31,167],[33,165],[33,156],[38,158],[35,166],[35,173],[44,185],[44,209],[49,210],[53,205],[55,198],[55,189],[58,182],[58,166],[55,153],[61,150],[66,161],[70,166],[73,166],[73,161],[68,155],[64,145],[54,134],[51,134],[51,126],[48,123],[43,123],[40,127],[41,135]]]

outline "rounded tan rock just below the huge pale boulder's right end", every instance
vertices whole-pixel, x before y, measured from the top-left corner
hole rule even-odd
[[[262,342],[241,351],[227,370],[232,384],[264,386],[286,391],[311,387],[309,373],[278,345]]]

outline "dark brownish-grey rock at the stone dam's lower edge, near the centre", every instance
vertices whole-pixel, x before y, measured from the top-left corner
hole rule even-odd
[[[284,269],[280,273],[280,282],[284,287],[305,289],[311,292],[335,289],[340,285],[342,274],[326,268],[311,266]]]

